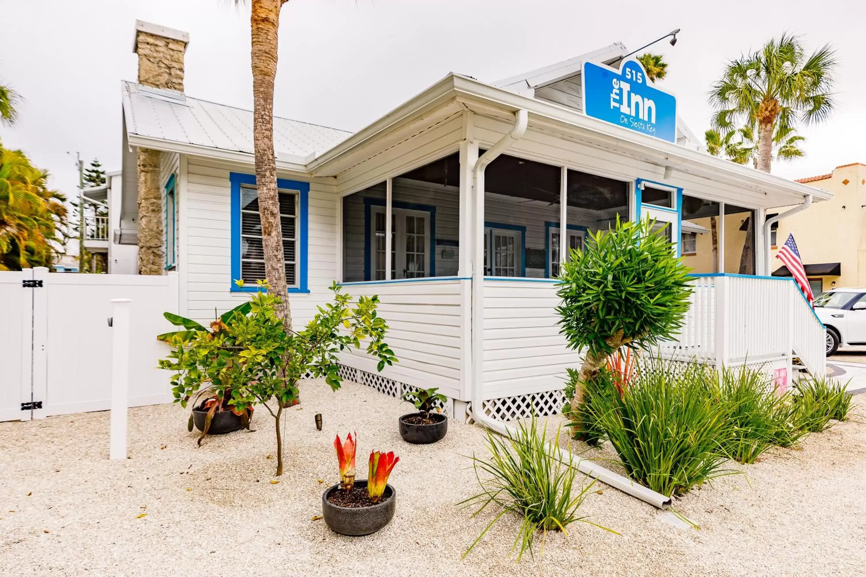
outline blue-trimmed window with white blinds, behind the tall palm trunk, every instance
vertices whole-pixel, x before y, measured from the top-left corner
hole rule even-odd
[[[231,182],[231,285],[232,292],[255,292],[255,281],[265,278],[262,220],[259,217],[255,175],[232,172]],[[282,249],[288,292],[307,288],[307,235],[309,183],[278,178]],[[235,284],[243,279],[244,286]]]

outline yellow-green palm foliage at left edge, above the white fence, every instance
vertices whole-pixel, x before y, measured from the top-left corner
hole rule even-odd
[[[66,224],[66,198],[48,173],[0,143],[0,271],[50,266]]]

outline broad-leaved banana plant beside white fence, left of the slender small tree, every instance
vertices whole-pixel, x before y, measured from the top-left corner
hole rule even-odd
[[[229,324],[236,317],[249,314],[252,304],[247,301],[237,305],[230,311],[223,312],[210,323],[210,330],[197,321],[181,317],[171,312],[163,313],[165,319],[182,330],[174,330],[157,336],[157,339],[171,344],[175,351],[169,359],[161,360],[159,366],[163,369],[186,371],[185,375],[175,375],[171,381],[175,402],[186,407],[193,399],[193,411],[207,411],[204,416],[204,430],[197,444],[210,431],[210,423],[214,415],[223,411],[231,411],[241,417],[242,425],[249,430],[249,421],[253,416],[253,407],[236,407],[233,394],[233,382],[248,378],[238,371],[236,362],[231,358],[236,346],[236,338],[229,330]],[[173,359],[173,360],[172,360]],[[180,379],[184,382],[181,383]],[[204,399],[203,399],[204,397]],[[200,402],[199,402],[200,401]],[[192,432],[194,414],[190,413],[187,429]]]

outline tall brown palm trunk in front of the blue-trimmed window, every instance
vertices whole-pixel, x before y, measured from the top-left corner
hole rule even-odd
[[[270,290],[281,298],[276,313],[287,329],[292,327],[292,312],[286,291],[286,265],[282,252],[280,202],[276,189],[274,155],[274,79],[277,61],[277,31],[280,9],[285,0],[253,0],[252,67],[253,67],[253,145],[255,148],[255,183],[262,219],[262,247],[265,278]]]

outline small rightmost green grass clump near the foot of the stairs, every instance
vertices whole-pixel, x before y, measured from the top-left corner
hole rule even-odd
[[[800,429],[818,433],[833,426],[830,420],[848,420],[851,394],[844,383],[807,377],[800,379],[794,389],[794,414]]]

